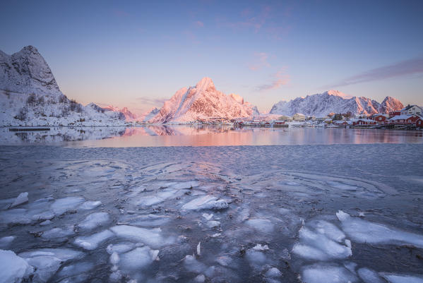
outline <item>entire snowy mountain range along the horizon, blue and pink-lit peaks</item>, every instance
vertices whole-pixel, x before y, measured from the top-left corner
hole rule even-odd
[[[215,119],[253,119],[257,107],[239,95],[216,90],[211,78],[202,78],[195,86],[181,88],[160,109],[142,115],[128,108],[86,106],[69,100],[56,83],[47,62],[35,47],[24,47],[8,55],[0,51],[0,126],[105,126],[125,121],[177,124]],[[393,97],[383,102],[367,97],[351,97],[337,90],[297,97],[273,105],[269,114],[326,116],[330,113],[375,114],[403,108]]]

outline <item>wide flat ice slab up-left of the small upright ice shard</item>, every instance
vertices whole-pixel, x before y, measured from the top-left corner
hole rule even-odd
[[[145,243],[153,248],[165,246],[170,243],[174,243],[174,238],[164,238],[162,236],[162,229],[145,229],[141,227],[133,227],[129,225],[118,225],[110,228],[117,236],[129,239],[131,241],[139,241]]]

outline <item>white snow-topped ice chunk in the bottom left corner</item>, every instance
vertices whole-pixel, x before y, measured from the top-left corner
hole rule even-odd
[[[23,258],[13,251],[0,250],[0,282],[21,282],[34,271]]]

